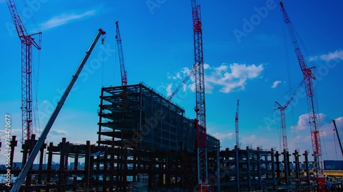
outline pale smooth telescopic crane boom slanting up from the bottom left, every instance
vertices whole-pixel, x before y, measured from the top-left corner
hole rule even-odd
[[[71,89],[73,88],[73,85],[75,84],[76,79],[78,79],[79,74],[80,74],[82,68],[84,67],[84,64],[86,64],[86,61],[87,61],[89,55],[91,55],[91,52],[93,51],[93,48],[94,48],[95,44],[97,43],[97,40],[99,40],[100,36],[102,36],[104,34],[106,34],[106,32],[102,29],[99,29],[99,31],[97,32],[97,35],[95,36],[93,42],[91,43],[91,46],[89,46],[88,50],[86,51],[86,54],[84,55],[82,61],[80,62],[78,69],[76,70],[75,74],[73,74],[73,77],[71,78],[71,81],[69,82],[67,89],[64,91],[62,97],[60,98],[60,101],[58,102],[58,105],[56,106],[55,111],[52,113],[51,118],[47,122],[47,125],[45,126],[45,128],[42,132],[42,135],[40,135],[40,137],[39,137],[38,141],[36,142],[36,145],[34,146],[31,154],[29,154],[29,159],[25,163],[23,169],[21,169],[21,173],[19,174],[18,178],[14,182],[14,185],[11,189],[11,192],[19,191],[19,189],[21,188],[21,184],[25,180],[25,177],[27,176],[27,173],[29,172],[29,169],[32,166],[32,163],[34,163],[34,159],[36,159],[36,156],[37,156],[40,148],[42,147],[45,139],[47,138],[47,134],[49,133],[51,126],[54,124],[58,113],[60,113],[60,110],[62,109],[62,106],[64,105],[64,101],[67,99],[69,92],[71,92]],[[104,38],[102,39],[102,43],[104,43]]]

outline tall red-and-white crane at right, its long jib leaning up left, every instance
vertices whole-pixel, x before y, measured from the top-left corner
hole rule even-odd
[[[309,127],[311,130],[312,149],[314,151],[314,169],[316,176],[322,176],[322,151],[320,146],[320,135],[318,131],[318,123],[316,120],[316,99],[314,98],[313,80],[316,79],[311,68],[307,68],[303,54],[300,51],[298,41],[296,39],[296,33],[294,32],[293,25],[289,20],[287,12],[283,7],[282,1],[280,2],[281,11],[283,13],[284,22],[287,26],[289,36],[292,40],[293,48],[296,53],[296,58],[300,65],[300,69],[303,72],[303,79],[305,81],[305,91],[307,96],[307,107],[309,111]]]

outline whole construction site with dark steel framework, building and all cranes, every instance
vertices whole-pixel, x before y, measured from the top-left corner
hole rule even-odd
[[[100,39],[104,43],[102,36],[106,31],[97,31],[43,132],[35,135],[32,134],[29,68],[31,50],[40,50],[40,42],[33,36],[40,34],[29,35],[14,1],[6,1],[22,45],[23,135],[18,140],[20,135],[8,134],[5,143],[0,141],[0,147],[1,144],[5,145],[9,151],[6,167],[9,166],[0,169],[0,174],[5,176],[1,180],[0,191],[343,191],[343,174],[328,174],[324,170],[314,102],[315,78],[299,49],[282,2],[280,6],[285,25],[304,76],[299,87],[305,86],[306,90],[311,128],[309,134],[313,144],[311,151],[289,151],[287,146],[284,111],[298,90],[284,105],[276,102],[275,110],[281,112],[283,134],[283,149],[280,151],[240,145],[239,100],[235,113],[235,146],[221,146],[220,139],[207,133],[202,19],[196,0],[190,2],[193,19],[193,26],[190,27],[193,27],[194,38],[193,70],[173,94],[163,96],[143,82],[128,84],[117,21],[115,35],[121,85],[99,89],[99,109],[97,114],[94,113],[99,118],[97,133],[94,133],[97,142],[91,143],[84,138],[84,143],[76,144],[61,137],[59,143],[48,143],[45,139],[58,113],[95,44]],[[185,109],[171,100],[191,77],[195,79],[196,103],[194,111],[188,113],[196,113],[193,119],[187,118]],[[10,128],[9,121],[10,118],[6,117],[6,128]],[[17,153],[22,154],[20,166],[14,166]],[[43,159],[45,156],[47,163]],[[54,166],[54,156],[59,159],[58,167]],[[38,165],[34,166],[34,161],[38,161]]]

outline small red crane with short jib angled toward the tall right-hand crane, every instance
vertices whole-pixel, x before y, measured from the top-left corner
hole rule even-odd
[[[292,96],[287,100],[285,105],[280,105],[279,102],[275,101],[274,110],[280,109],[280,116],[281,116],[281,133],[282,133],[282,143],[283,143],[283,151],[288,151],[288,145],[287,145],[287,129],[286,129],[286,116],[285,116],[285,109],[287,106],[292,102],[294,96],[296,96],[296,93],[300,89],[301,86],[305,81],[301,81],[301,83],[296,88],[296,91],[292,94]],[[277,106],[276,106],[277,105]]]

